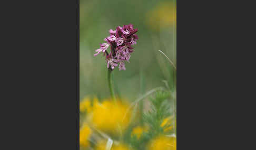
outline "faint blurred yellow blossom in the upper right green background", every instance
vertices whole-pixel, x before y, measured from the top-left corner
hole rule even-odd
[[[154,30],[173,26],[175,22],[176,8],[173,2],[161,2],[146,14],[146,23]]]

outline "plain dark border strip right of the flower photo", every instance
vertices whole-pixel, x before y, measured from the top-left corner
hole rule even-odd
[[[230,4],[179,1],[179,149],[255,147],[254,5]]]

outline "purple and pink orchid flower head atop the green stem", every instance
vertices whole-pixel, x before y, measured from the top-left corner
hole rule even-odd
[[[110,36],[104,40],[107,43],[100,44],[100,48],[95,50],[97,53],[94,56],[98,55],[100,52],[103,52],[106,55],[107,68],[113,70],[118,66],[119,70],[125,70],[125,61],[129,62],[131,57],[131,52],[133,48],[131,45],[136,44],[136,40],[139,39],[135,34],[138,29],[133,29],[133,25],[124,25],[123,27],[117,27],[116,30],[110,30]],[[107,48],[111,48],[110,52],[107,52]]]

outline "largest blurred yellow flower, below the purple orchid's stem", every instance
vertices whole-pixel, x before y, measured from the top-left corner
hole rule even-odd
[[[130,122],[131,112],[127,111],[128,108],[129,105],[120,100],[116,103],[111,99],[105,100],[102,104],[93,106],[91,122],[103,132],[123,132]]]

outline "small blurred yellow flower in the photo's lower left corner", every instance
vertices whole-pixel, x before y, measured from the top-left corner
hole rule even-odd
[[[80,145],[87,147],[89,145],[88,138],[91,134],[91,128],[85,124],[80,130]]]

